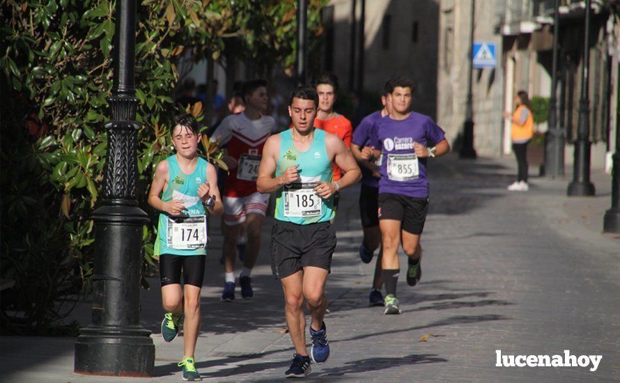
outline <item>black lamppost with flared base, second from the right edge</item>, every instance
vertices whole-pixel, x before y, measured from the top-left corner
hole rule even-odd
[[[590,182],[590,107],[589,107],[589,65],[590,65],[590,0],[586,0],[584,20],[583,65],[581,72],[581,98],[573,166],[573,182],[568,185],[569,196],[594,196],[594,184]]]

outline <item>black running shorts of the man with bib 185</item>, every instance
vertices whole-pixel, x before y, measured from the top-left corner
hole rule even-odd
[[[282,279],[308,266],[330,272],[335,249],[336,229],[330,222],[297,225],[276,219],[271,230],[273,276]]]

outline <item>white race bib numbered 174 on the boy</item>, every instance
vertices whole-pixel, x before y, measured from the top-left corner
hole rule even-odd
[[[206,216],[168,217],[167,240],[170,249],[204,249],[207,246]]]

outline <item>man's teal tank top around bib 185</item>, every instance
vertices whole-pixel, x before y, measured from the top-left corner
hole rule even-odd
[[[315,224],[334,218],[334,197],[323,199],[313,191],[318,181],[332,182],[332,163],[327,157],[325,131],[314,130],[308,150],[300,152],[293,144],[293,129],[280,134],[276,176],[299,164],[301,181],[281,187],[276,194],[275,219],[298,225]]]

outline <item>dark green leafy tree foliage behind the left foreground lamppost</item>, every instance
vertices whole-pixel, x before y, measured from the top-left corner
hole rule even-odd
[[[249,59],[295,59],[296,1],[142,0],[137,15],[139,198],[145,210],[157,162],[171,153],[168,121],[176,61],[219,58],[235,46]],[[318,31],[318,10],[309,19]],[[112,88],[113,0],[6,0],[0,5],[2,328],[47,331],[88,292],[93,221],[106,152]],[[192,109],[200,114],[200,107]],[[204,155],[217,162],[205,143]],[[155,227],[144,228],[152,262]],[[75,299],[74,299],[75,302]]]

